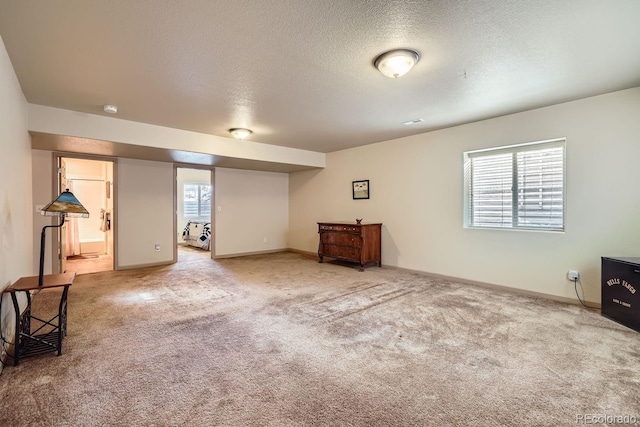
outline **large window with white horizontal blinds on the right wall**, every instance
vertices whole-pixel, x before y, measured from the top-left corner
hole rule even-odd
[[[564,230],[565,139],[464,153],[465,226]]]

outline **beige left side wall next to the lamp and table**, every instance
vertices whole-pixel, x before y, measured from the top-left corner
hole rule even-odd
[[[27,102],[0,38],[0,291],[37,271],[32,266],[31,143]],[[13,341],[15,320],[2,297],[2,335]],[[0,349],[4,353],[4,345]],[[2,369],[0,365],[0,370]],[[1,398],[0,398],[1,402]]]

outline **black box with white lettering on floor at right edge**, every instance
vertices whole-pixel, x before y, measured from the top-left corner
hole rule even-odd
[[[640,258],[602,257],[602,315],[640,332]]]

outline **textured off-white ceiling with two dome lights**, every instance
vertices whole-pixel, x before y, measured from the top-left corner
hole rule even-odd
[[[639,18],[638,0],[0,0],[29,103],[319,152],[640,86]],[[382,76],[399,47],[420,62]]]

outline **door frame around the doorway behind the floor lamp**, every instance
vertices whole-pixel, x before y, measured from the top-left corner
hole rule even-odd
[[[82,160],[96,160],[99,162],[109,162],[112,164],[113,170],[113,185],[111,188],[111,198],[113,199],[113,216],[117,218],[118,213],[118,159],[116,157],[109,156],[100,156],[100,155],[92,155],[92,154],[80,154],[80,153],[67,153],[63,151],[54,151],[52,156],[52,168],[51,168],[51,193],[53,196],[51,200],[58,197],[58,195],[63,191],[60,188],[60,161],[62,158],[66,159],[82,159]],[[113,270],[119,270],[118,268],[118,222],[113,221],[111,230],[113,235]],[[61,239],[60,233],[61,229],[58,230],[57,233],[52,233],[53,236],[51,238],[51,270],[52,273],[60,273],[61,262],[62,262],[62,247],[61,247]]]

